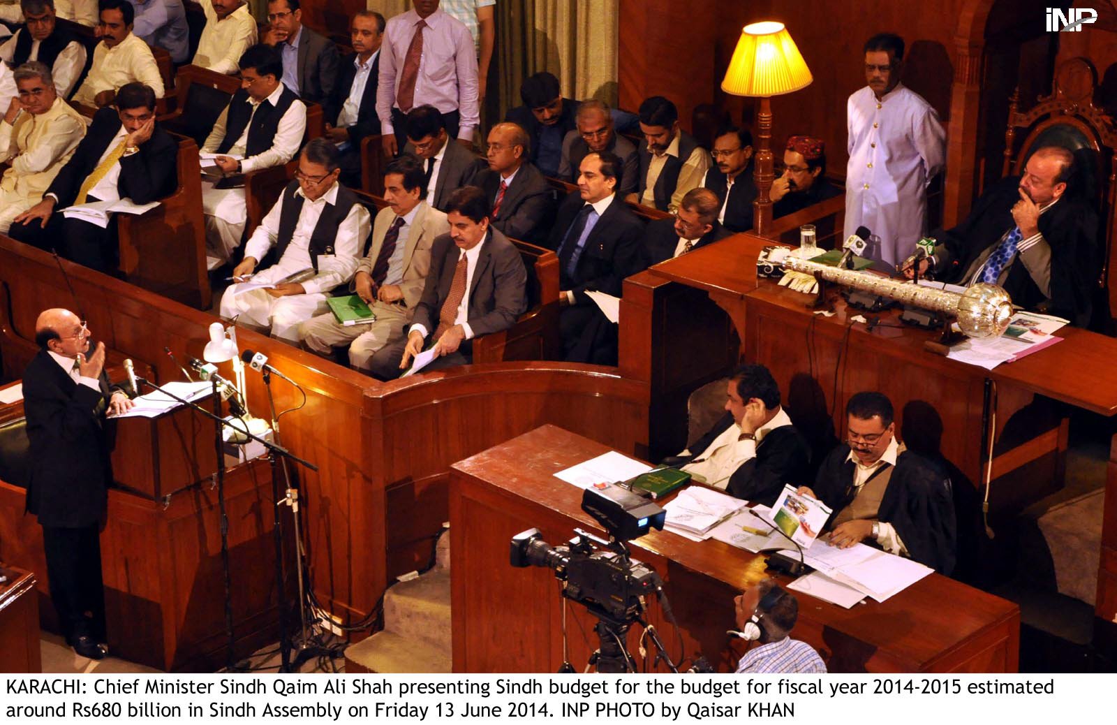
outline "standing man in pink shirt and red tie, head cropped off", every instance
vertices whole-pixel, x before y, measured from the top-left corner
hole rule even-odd
[[[407,114],[430,105],[442,114],[447,132],[472,147],[477,132],[477,55],[461,21],[446,15],[438,0],[413,0],[413,9],[388,21],[380,58],[376,113],[384,155],[399,153],[407,139]]]

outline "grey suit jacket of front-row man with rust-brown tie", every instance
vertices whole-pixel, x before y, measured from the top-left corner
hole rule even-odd
[[[435,238],[430,250],[430,271],[422,290],[422,299],[416,307],[412,324],[422,325],[428,334],[435,334],[442,303],[450,296],[450,285],[458,266],[461,250],[450,238],[440,235]],[[527,309],[527,270],[516,246],[496,229],[489,228],[481,241],[477,269],[466,295],[468,312],[466,321],[475,337],[507,330]]]

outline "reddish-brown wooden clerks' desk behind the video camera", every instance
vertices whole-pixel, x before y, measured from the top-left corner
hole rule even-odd
[[[560,597],[551,570],[513,569],[513,535],[538,527],[552,545],[574,526],[599,530],[581,511],[581,489],[554,473],[599,456],[607,446],[543,426],[454,465],[450,473],[450,557],[454,670],[554,671],[562,661]],[[717,541],[693,542],[652,532],[634,542],[633,556],[663,578],[686,651],[700,651],[732,671],[725,630],[733,597],[764,574],[761,556]],[[1003,599],[932,574],[884,603],[846,610],[798,595],[793,636],[815,647],[833,671],[1015,671],[1020,610]],[[652,605],[652,621],[672,658],[678,645]],[[581,627],[593,621],[571,604]],[[571,661],[589,649],[569,623]]]

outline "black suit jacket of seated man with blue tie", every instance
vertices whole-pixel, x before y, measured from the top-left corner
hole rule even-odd
[[[585,201],[577,191],[563,200],[547,240],[551,249],[561,251],[566,232],[584,204]],[[624,278],[648,266],[642,239],[643,222],[628,204],[613,197],[612,203],[586,237],[585,248],[577,258],[573,276],[566,274],[567,260],[563,256],[558,257],[560,288],[573,292],[577,305],[594,304],[585,294],[588,289],[620,297]]]

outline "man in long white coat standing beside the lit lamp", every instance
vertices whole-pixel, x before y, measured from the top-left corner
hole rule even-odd
[[[849,97],[844,237],[866,226],[880,237],[870,255],[892,266],[927,231],[927,184],[943,170],[938,114],[900,84],[904,39],[882,32],[865,44],[869,85]]]

